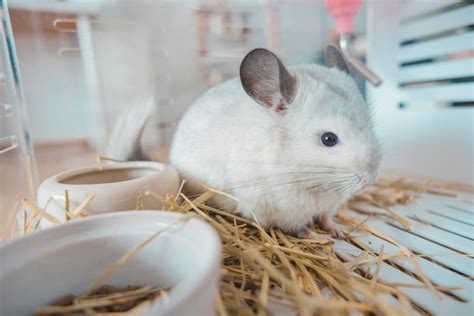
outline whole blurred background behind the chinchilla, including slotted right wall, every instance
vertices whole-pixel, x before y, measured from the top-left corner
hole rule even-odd
[[[210,86],[236,76],[252,48],[269,48],[288,64],[321,64],[327,44],[339,40],[323,0],[8,5],[13,68],[21,74],[10,81],[21,84],[24,102],[15,110],[5,101],[2,58],[0,209],[34,194],[38,180],[93,164],[117,115],[139,96],[155,97],[143,142],[166,161],[183,112]],[[358,82],[377,115],[384,167],[472,182],[473,7],[462,0],[362,3],[352,50],[384,80],[378,88]],[[6,44],[2,54],[9,50]],[[8,119],[15,114],[22,119]],[[36,160],[25,151],[32,143]]]

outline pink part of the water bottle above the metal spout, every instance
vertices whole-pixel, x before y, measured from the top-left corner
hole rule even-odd
[[[353,33],[353,19],[359,12],[362,0],[326,0],[331,16],[336,20],[339,34]]]

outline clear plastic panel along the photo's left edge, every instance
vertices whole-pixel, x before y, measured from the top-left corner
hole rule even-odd
[[[0,11],[0,239],[7,239],[16,231],[18,201],[35,197],[37,175],[15,43],[2,0]]]

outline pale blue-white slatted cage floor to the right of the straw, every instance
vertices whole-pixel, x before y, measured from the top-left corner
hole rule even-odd
[[[368,216],[348,210],[347,216],[361,224],[368,222],[392,240],[374,234],[357,235],[336,241],[338,254],[353,258],[368,252],[375,259],[381,249],[393,253],[406,245],[417,255],[416,261],[394,258],[390,264],[382,262],[379,271],[368,273],[377,273],[387,284],[405,284],[402,292],[418,305],[420,313],[474,315],[474,195],[424,193],[415,202],[393,209],[412,221],[411,229],[377,218],[368,220]],[[445,290],[435,293],[427,284]],[[388,296],[387,300],[393,298]]]

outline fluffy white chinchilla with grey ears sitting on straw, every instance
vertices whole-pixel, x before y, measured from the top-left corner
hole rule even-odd
[[[216,199],[217,206],[264,227],[308,237],[316,221],[343,237],[332,217],[375,181],[381,154],[371,111],[334,46],[326,65],[287,69],[259,48],[242,61],[240,78],[202,95],[171,147],[188,190],[225,191],[239,202]]]

